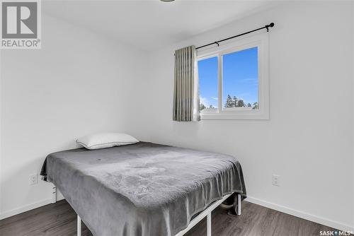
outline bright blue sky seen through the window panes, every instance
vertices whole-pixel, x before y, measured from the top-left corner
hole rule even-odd
[[[253,47],[223,56],[223,105],[227,95],[258,102],[258,49]],[[198,61],[200,101],[217,107],[217,57]]]

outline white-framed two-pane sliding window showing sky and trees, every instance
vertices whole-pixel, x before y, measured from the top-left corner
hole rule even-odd
[[[202,119],[269,119],[268,34],[198,52]]]

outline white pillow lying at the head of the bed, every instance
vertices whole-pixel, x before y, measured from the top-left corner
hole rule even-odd
[[[76,143],[90,150],[123,146],[137,142],[139,142],[137,138],[123,133],[91,134],[76,140]]]

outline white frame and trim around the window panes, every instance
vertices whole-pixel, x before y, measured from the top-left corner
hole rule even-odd
[[[222,100],[222,55],[258,47],[258,109],[249,107],[223,107]],[[201,119],[269,119],[269,36],[260,33],[226,42],[219,47],[198,50],[198,61],[218,58],[218,108],[200,112]]]

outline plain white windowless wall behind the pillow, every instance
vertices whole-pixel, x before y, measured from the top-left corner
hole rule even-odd
[[[1,52],[1,218],[50,202],[50,184],[28,185],[47,154],[136,117],[127,98],[144,52],[50,16],[42,25],[42,49]]]

